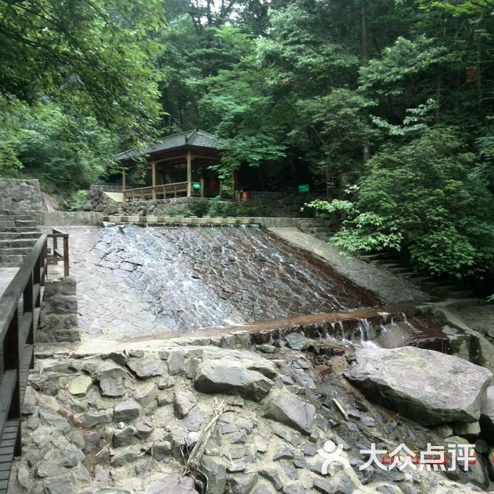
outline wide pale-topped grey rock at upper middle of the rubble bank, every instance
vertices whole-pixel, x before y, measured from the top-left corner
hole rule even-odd
[[[194,376],[194,387],[209,393],[239,394],[259,402],[275,383],[239,361],[218,359],[201,364]]]

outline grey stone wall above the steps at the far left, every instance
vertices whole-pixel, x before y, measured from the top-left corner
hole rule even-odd
[[[40,211],[40,182],[0,177],[0,210]]]

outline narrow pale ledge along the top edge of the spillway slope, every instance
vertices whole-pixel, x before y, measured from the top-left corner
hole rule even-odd
[[[285,218],[285,217],[194,217],[194,216],[104,216],[102,221],[112,223],[138,223],[154,226],[166,224],[188,224],[188,225],[245,225],[258,224],[266,228],[297,228],[308,218]]]

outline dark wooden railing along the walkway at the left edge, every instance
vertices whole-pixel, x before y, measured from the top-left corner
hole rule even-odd
[[[48,239],[54,255],[48,255]],[[64,240],[64,255],[55,255]],[[68,234],[41,234],[0,298],[0,493],[6,493],[14,456],[20,456],[20,410],[29,370],[34,368],[34,338],[40,320],[47,263],[64,260],[68,275]]]

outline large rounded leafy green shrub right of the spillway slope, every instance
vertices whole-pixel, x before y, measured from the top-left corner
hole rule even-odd
[[[394,249],[434,275],[494,269],[494,200],[452,128],[388,145],[368,162],[353,216],[332,238],[349,252]],[[334,206],[319,206],[336,210]]]

